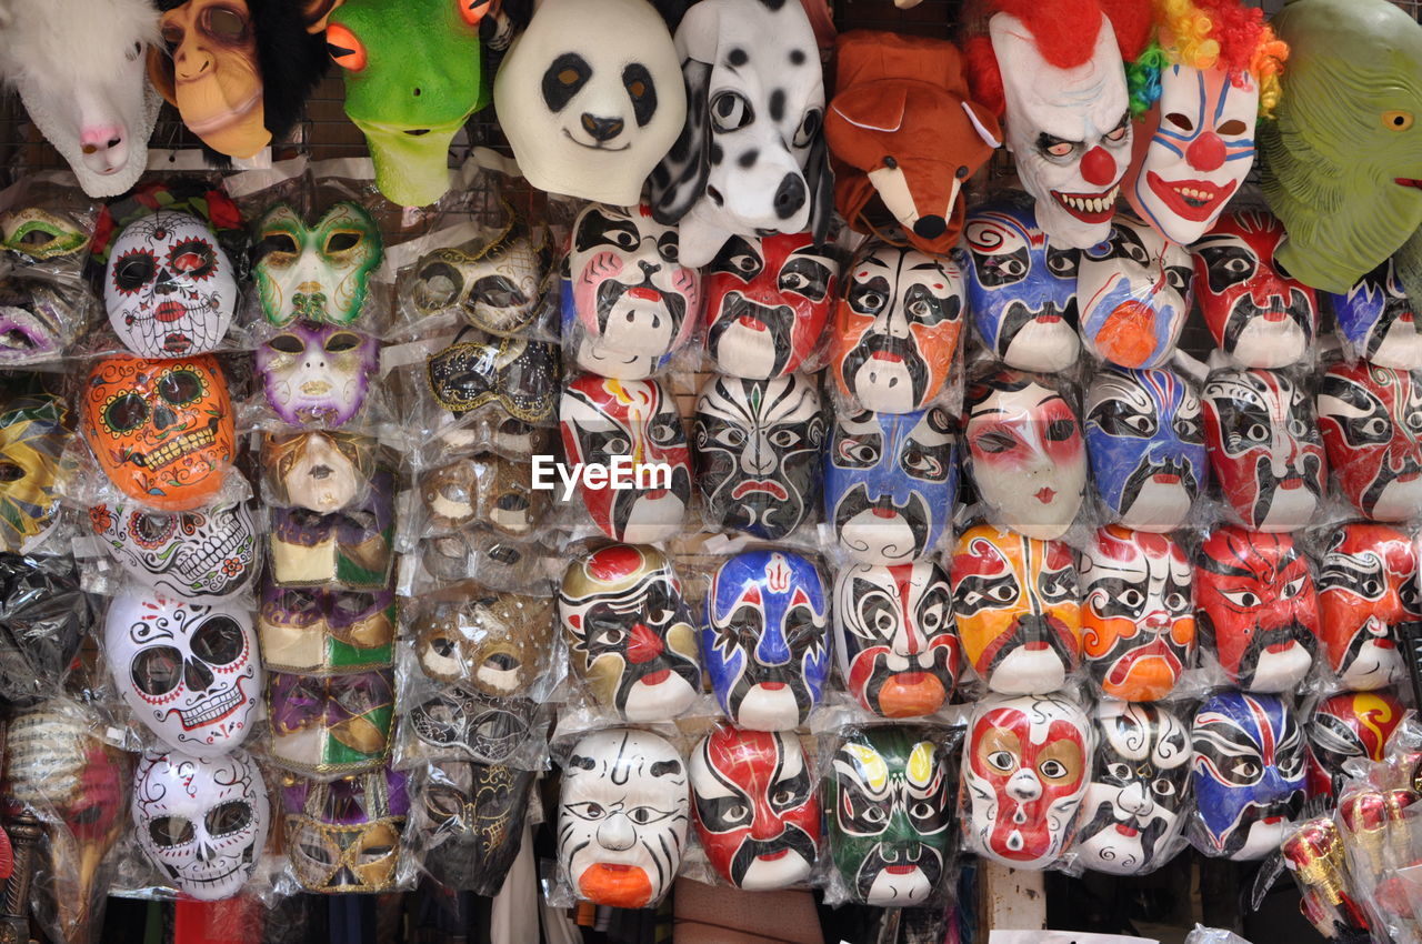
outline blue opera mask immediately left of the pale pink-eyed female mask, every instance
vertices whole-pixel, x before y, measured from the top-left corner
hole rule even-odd
[[[836,414],[825,451],[825,517],[855,560],[909,563],[931,553],[957,493],[957,436],[943,409]]]

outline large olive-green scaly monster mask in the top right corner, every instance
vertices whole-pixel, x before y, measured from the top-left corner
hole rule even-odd
[[[1290,47],[1258,127],[1276,259],[1341,294],[1422,225],[1422,26],[1386,0],[1294,0],[1273,27]]]

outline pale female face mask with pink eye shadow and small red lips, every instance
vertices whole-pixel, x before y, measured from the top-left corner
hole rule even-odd
[[[1007,370],[968,384],[963,404],[967,469],[993,523],[1042,540],[1066,533],[1086,493],[1076,408]]]

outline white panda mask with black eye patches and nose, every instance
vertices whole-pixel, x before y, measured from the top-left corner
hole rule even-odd
[[[641,200],[687,118],[671,33],[647,0],[539,0],[493,105],[529,183],[613,206]]]

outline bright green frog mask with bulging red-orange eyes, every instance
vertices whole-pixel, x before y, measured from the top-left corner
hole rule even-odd
[[[346,115],[365,134],[375,185],[402,206],[449,188],[448,152],[489,104],[479,21],[492,0],[346,0],[326,47],[346,70]]]

